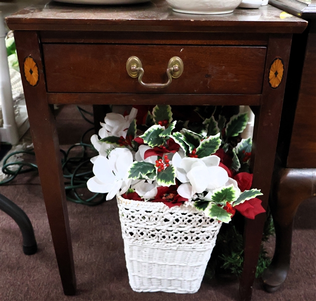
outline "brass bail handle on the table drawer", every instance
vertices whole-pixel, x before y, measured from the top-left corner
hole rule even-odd
[[[140,61],[138,57],[132,56],[127,60],[126,71],[129,76],[138,77],[138,82],[144,87],[153,88],[153,89],[165,88],[171,84],[172,78],[178,78],[181,76],[183,72],[183,62],[179,57],[172,57],[170,59],[168,63],[168,68],[166,71],[167,76],[168,76],[168,81],[164,84],[160,84],[160,83],[146,84],[142,81],[142,78],[144,75],[144,69],[142,67],[142,62]]]

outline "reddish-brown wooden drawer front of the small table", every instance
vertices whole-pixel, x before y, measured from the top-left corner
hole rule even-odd
[[[44,44],[49,92],[260,94],[265,47]],[[143,87],[126,71],[137,56],[145,83],[165,83],[171,57],[182,75],[165,88]]]

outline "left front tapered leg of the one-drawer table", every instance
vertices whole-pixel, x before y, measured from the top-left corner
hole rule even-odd
[[[39,36],[34,31],[17,31],[15,32],[15,39],[36,161],[39,168],[59,272],[64,293],[73,295],[76,292],[76,277],[61,166],[61,154],[55,118],[47,102]],[[37,64],[36,67],[34,64],[31,65],[32,70],[30,70],[32,72],[29,71],[29,69],[27,70],[31,75],[34,74],[33,81],[31,82],[30,76],[29,78],[25,76],[24,62],[26,58],[32,58]],[[36,76],[37,70],[39,73],[38,80]],[[49,283],[47,284],[49,285]]]

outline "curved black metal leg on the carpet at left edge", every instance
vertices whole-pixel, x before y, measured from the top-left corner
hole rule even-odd
[[[0,210],[10,215],[18,224],[23,237],[23,252],[32,255],[37,252],[37,243],[32,223],[26,213],[14,202],[0,194]]]

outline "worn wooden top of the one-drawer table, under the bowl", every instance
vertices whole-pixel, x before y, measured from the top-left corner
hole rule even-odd
[[[12,30],[50,31],[196,31],[301,33],[307,22],[270,5],[236,9],[224,15],[173,12],[165,1],[129,6],[83,6],[57,2],[39,4],[8,17]]]

